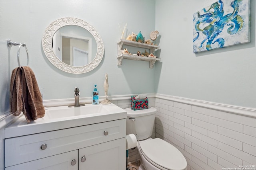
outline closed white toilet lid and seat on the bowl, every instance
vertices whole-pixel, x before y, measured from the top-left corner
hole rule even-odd
[[[155,138],[139,144],[142,155],[159,169],[186,170],[187,162],[182,153],[170,143]]]

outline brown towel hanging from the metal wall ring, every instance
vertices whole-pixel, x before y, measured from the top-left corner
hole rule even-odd
[[[15,83],[12,80],[15,80]],[[44,117],[42,96],[36,76],[30,67],[22,66],[12,71],[11,96],[10,105],[13,115],[20,115],[20,108],[22,108],[28,122]]]

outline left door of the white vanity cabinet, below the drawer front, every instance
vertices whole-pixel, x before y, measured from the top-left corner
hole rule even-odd
[[[78,150],[9,166],[5,170],[78,170]]]

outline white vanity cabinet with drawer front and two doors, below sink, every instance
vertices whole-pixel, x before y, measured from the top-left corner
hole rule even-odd
[[[121,170],[126,119],[5,139],[6,170]]]

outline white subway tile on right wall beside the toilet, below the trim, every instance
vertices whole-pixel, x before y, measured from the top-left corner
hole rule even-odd
[[[188,170],[256,165],[256,118],[171,100],[155,99],[156,137],[184,154]]]

